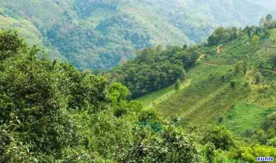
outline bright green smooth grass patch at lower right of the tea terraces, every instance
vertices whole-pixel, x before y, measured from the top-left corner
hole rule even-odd
[[[267,112],[269,109],[265,107],[238,102],[231,107],[221,124],[227,126],[236,136],[240,136],[247,129],[262,128]]]

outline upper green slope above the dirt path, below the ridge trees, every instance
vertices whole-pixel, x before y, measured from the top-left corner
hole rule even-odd
[[[234,64],[236,61],[244,60],[249,61],[254,67],[257,67],[260,62],[264,63],[264,69],[272,70],[272,65],[269,60],[272,55],[276,53],[276,29],[271,30],[271,35],[269,39],[259,38],[258,47],[253,48],[252,46],[246,45],[246,42],[250,42],[248,37],[243,37],[242,39],[232,41],[227,43],[222,47],[220,53],[217,54],[213,47],[213,54],[206,55],[203,62],[206,63],[221,63],[221,64]],[[208,53],[208,50],[202,49],[203,53]]]

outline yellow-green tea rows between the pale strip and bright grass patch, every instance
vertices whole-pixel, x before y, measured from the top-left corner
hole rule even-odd
[[[249,87],[230,81],[238,78],[232,72],[215,78],[194,82],[180,93],[174,94],[156,108],[165,118],[182,117],[187,125],[208,125],[218,121],[236,102],[248,97]]]

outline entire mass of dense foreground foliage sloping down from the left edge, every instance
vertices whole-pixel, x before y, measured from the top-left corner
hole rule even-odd
[[[127,102],[125,86],[38,53],[0,32],[1,163],[199,162],[192,138]]]

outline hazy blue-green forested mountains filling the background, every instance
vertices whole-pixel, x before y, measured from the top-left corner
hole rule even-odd
[[[0,27],[17,29],[51,58],[109,69],[135,49],[204,41],[217,26],[257,24],[272,0],[1,0]]]

